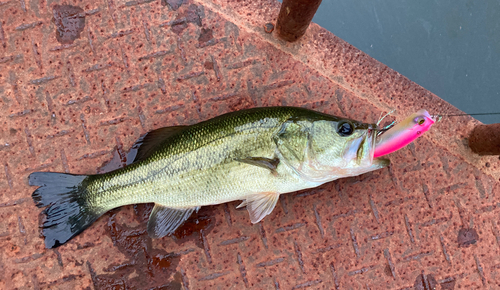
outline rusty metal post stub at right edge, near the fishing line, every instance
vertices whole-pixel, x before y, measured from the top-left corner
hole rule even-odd
[[[479,155],[500,155],[500,123],[476,126],[469,137],[469,147]]]

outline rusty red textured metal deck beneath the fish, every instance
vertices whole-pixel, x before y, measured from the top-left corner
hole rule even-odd
[[[34,171],[123,166],[155,128],[256,106],[366,122],[458,110],[328,31],[276,38],[277,1],[0,1],[1,289],[495,289],[500,160],[444,119],[389,168],[280,198],[252,225],[238,202],[152,240],[150,205],[44,248]],[[110,161],[111,160],[111,161]]]

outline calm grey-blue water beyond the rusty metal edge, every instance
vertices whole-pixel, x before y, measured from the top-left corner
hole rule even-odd
[[[500,112],[499,0],[323,0],[313,21],[462,111]]]

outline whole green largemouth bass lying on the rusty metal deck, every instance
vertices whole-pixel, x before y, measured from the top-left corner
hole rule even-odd
[[[201,206],[243,200],[257,223],[279,195],[389,165],[374,159],[375,124],[303,108],[228,113],[191,126],[160,128],[136,143],[134,162],[97,175],[34,172],[29,184],[45,220],[45,246],[60,246],[105,212],[155,203],[151,237],[173,233]]]

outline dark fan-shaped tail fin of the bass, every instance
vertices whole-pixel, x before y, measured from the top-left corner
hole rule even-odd
[[[37,207],[46,207],[41,225],[45,247],[63,245],[89,227],[101,216],[86,201],[87,175],[34,172],[29,185],[40,186],[31,195]]]

